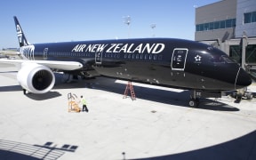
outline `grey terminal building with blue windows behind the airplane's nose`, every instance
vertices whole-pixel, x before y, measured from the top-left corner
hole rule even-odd
[[[196,8],[195,40],[220,48],[248,71],[256,67],[256,1],[222,0]]]

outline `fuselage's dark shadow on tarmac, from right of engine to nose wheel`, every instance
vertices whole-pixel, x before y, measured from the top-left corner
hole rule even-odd
[[[116,79],[108,77],[97,77],[95,79],[81,80],[71,84],[63,84],[59,82],[54,86],[54,89],[66,88],[92,88],[101,91],[115,92],[117,94],[120,94],[120,98],[123,98],[126,84],[118,84],[116,83]],[[133,85],[133,89],[136,94],[136,98],[138,99],[151,100],[164,104],[172,104],[188,108],[190,91],[180,90],[180,92],[172,92],[155,88],[141,87],[136,85]],[[130,95],[131,94],[129,92],[129,96]],[[202,99],[199,108],[220,111],[239,111],[238,108],[228,106],[228,104],[208,99]]]

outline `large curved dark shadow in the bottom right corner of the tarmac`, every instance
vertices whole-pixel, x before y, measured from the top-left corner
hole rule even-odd
[[[235,140],[230,140],[208,148],[196,149],[179,154],[136,158],[136,160],[227,160],[227,159],[256,159],[256,131],[250,132]]]

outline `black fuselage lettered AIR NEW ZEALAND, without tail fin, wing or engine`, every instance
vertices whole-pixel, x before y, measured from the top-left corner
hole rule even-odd
[[[182,39],[30,44],[20,47],[20,53],[29,60],[79,61],[84,65],[79,71],[87,74],[94,70],[102,76],[184,89],[229,91],[252,83],[225,52]]]

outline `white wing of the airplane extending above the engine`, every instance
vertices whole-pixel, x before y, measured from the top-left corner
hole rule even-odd
[[[6,60],[0,59],[0,63],[14,64],[17,67],[21,67],[22,64],[36,63],[48,68],[60,69],[60,70],[76,70],[83,68],[83,64],[77,61],[57,61],[57,60]]]

